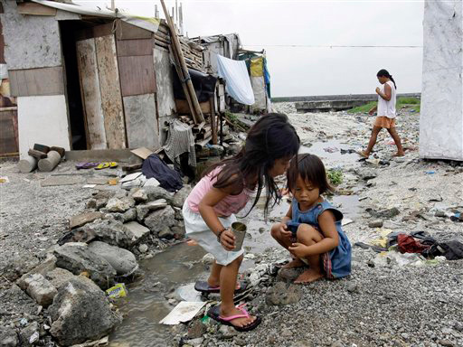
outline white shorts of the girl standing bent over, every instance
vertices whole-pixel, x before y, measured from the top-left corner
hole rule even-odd
[[[244,253],[243,249],[236,252],[224,249],[222,245],[217,242],[217,235],[209,229],[203,217],[201,217],[201,214],[190,210],[187,200],[184,201],[182,213],[184,214],[186,237],[196,240],[206,252],[211,253],[217,264],[229,265],[233,260]],[[231,223],[236,221],[236,217],[234,214],[231,214],[230,217],[219,217],[219,220],[224,228],[230,228]]]

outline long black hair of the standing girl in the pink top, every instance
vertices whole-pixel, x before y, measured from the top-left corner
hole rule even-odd
[[[267,200],[264,215],[267,216],[270,201],[273,200],[275,204],[281,199],[277,183],[269,171],[277,159],[290,159],[297,155],[299,146],[299,136],[289,123],[288,117],[279,113],[269,113],[260,117],[250,128],[240,153],[213,164],[203,175],[211,174],[216,167],[222,166],[221,172],[217,175],[217,182],[213,184],[215,188],[233,186],[239,187],[242,191],[246,186],[254,189],[255,186],[250,187],[250,184],[256,183],[256,199],[250,210],[258,202],[265,186]]]

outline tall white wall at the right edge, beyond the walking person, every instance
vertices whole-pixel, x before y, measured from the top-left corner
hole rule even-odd
[[[463,161],[463,5],[424,6],[420,157]]]

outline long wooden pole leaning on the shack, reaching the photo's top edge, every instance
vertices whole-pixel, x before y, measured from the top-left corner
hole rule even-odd
[[[190,93],[190,97],[193,102],[193,107],[195,111],[193,112],[194,123],[196,124],[201,123],[204,121],[203,112],[201,111],[201,107],[199,106],[198,98],[196,98],[196,93],[194,92],[193,83],[190,78],[188,68],[186,67],[186,63],[184,61],[184,54],[182,53],[182,48],[180,46],[177,33],[175,31],[175,25],[172,21],[172,18],[169,16],[169,12],[167,11],[167,8],[165,7],[164,0],[161,0],[161,5],[163,5],[165,19],[170,29],[170,35],[171,35],[171,41],[172,41],[171,45],[175,46],[175,51],[177,52],[177,59],[180,62],[180,68],[182,70],[182,76],[179,76],[180,81],[182,83],[186,83],[186,88],[188,89],[188,92]]]

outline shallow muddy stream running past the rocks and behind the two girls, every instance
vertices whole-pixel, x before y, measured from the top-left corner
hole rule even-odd
[[[326,168],[353,167],[358,164],[358,155],[341,154],[349,145],[339,141],[317,142],[307,147],[301,147],[301,153],[312,153],[322,158]],[[327,149],[327,151],[326,151]],[[358,196],[335,195],[330,198],[335,206],[342,206],[345,219],[355,220],[358,213]],[[260,254],[266,249],[279,247],[269,235],[271,220],[276,220],[286,214],[289,204],[284,200],[276,205],[269,214],[266,223],[263,219],[262,204],[241,219],[248,226],[248,235],[244,245],[248,253]],[[205,252],[199,246],[188,246],[180,243],[154,258],[140,263],[145,271],[145,277],[128,286],[128,297],[119,299],[118,307],[124,315],[124,322],[110,335],[111,342],[120,347],[164,346],[166,340],[172,338],[175,326],[158,324],[173,308],[169,305],[165,295],[171,291],[189,295],[189,300],[196,295],[193,284],[198,279],[207,278],[208,272],[201,259]],[[245,258],[241,271],[254,266],[254,260]],[[180,293],[179,291],[182,291]]]

